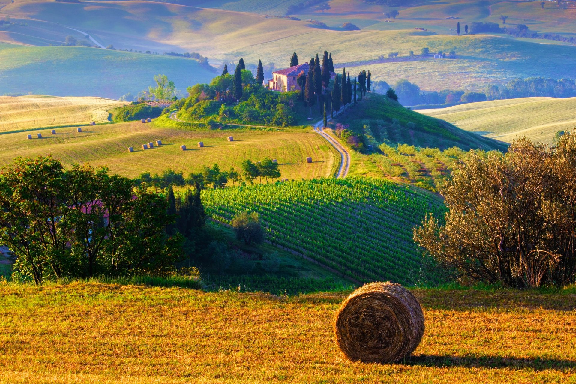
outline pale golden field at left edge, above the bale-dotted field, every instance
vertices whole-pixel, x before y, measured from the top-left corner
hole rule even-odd
[[[108,121],[108,109],[126,104],[101,97],[0,96],[0,132]]]

